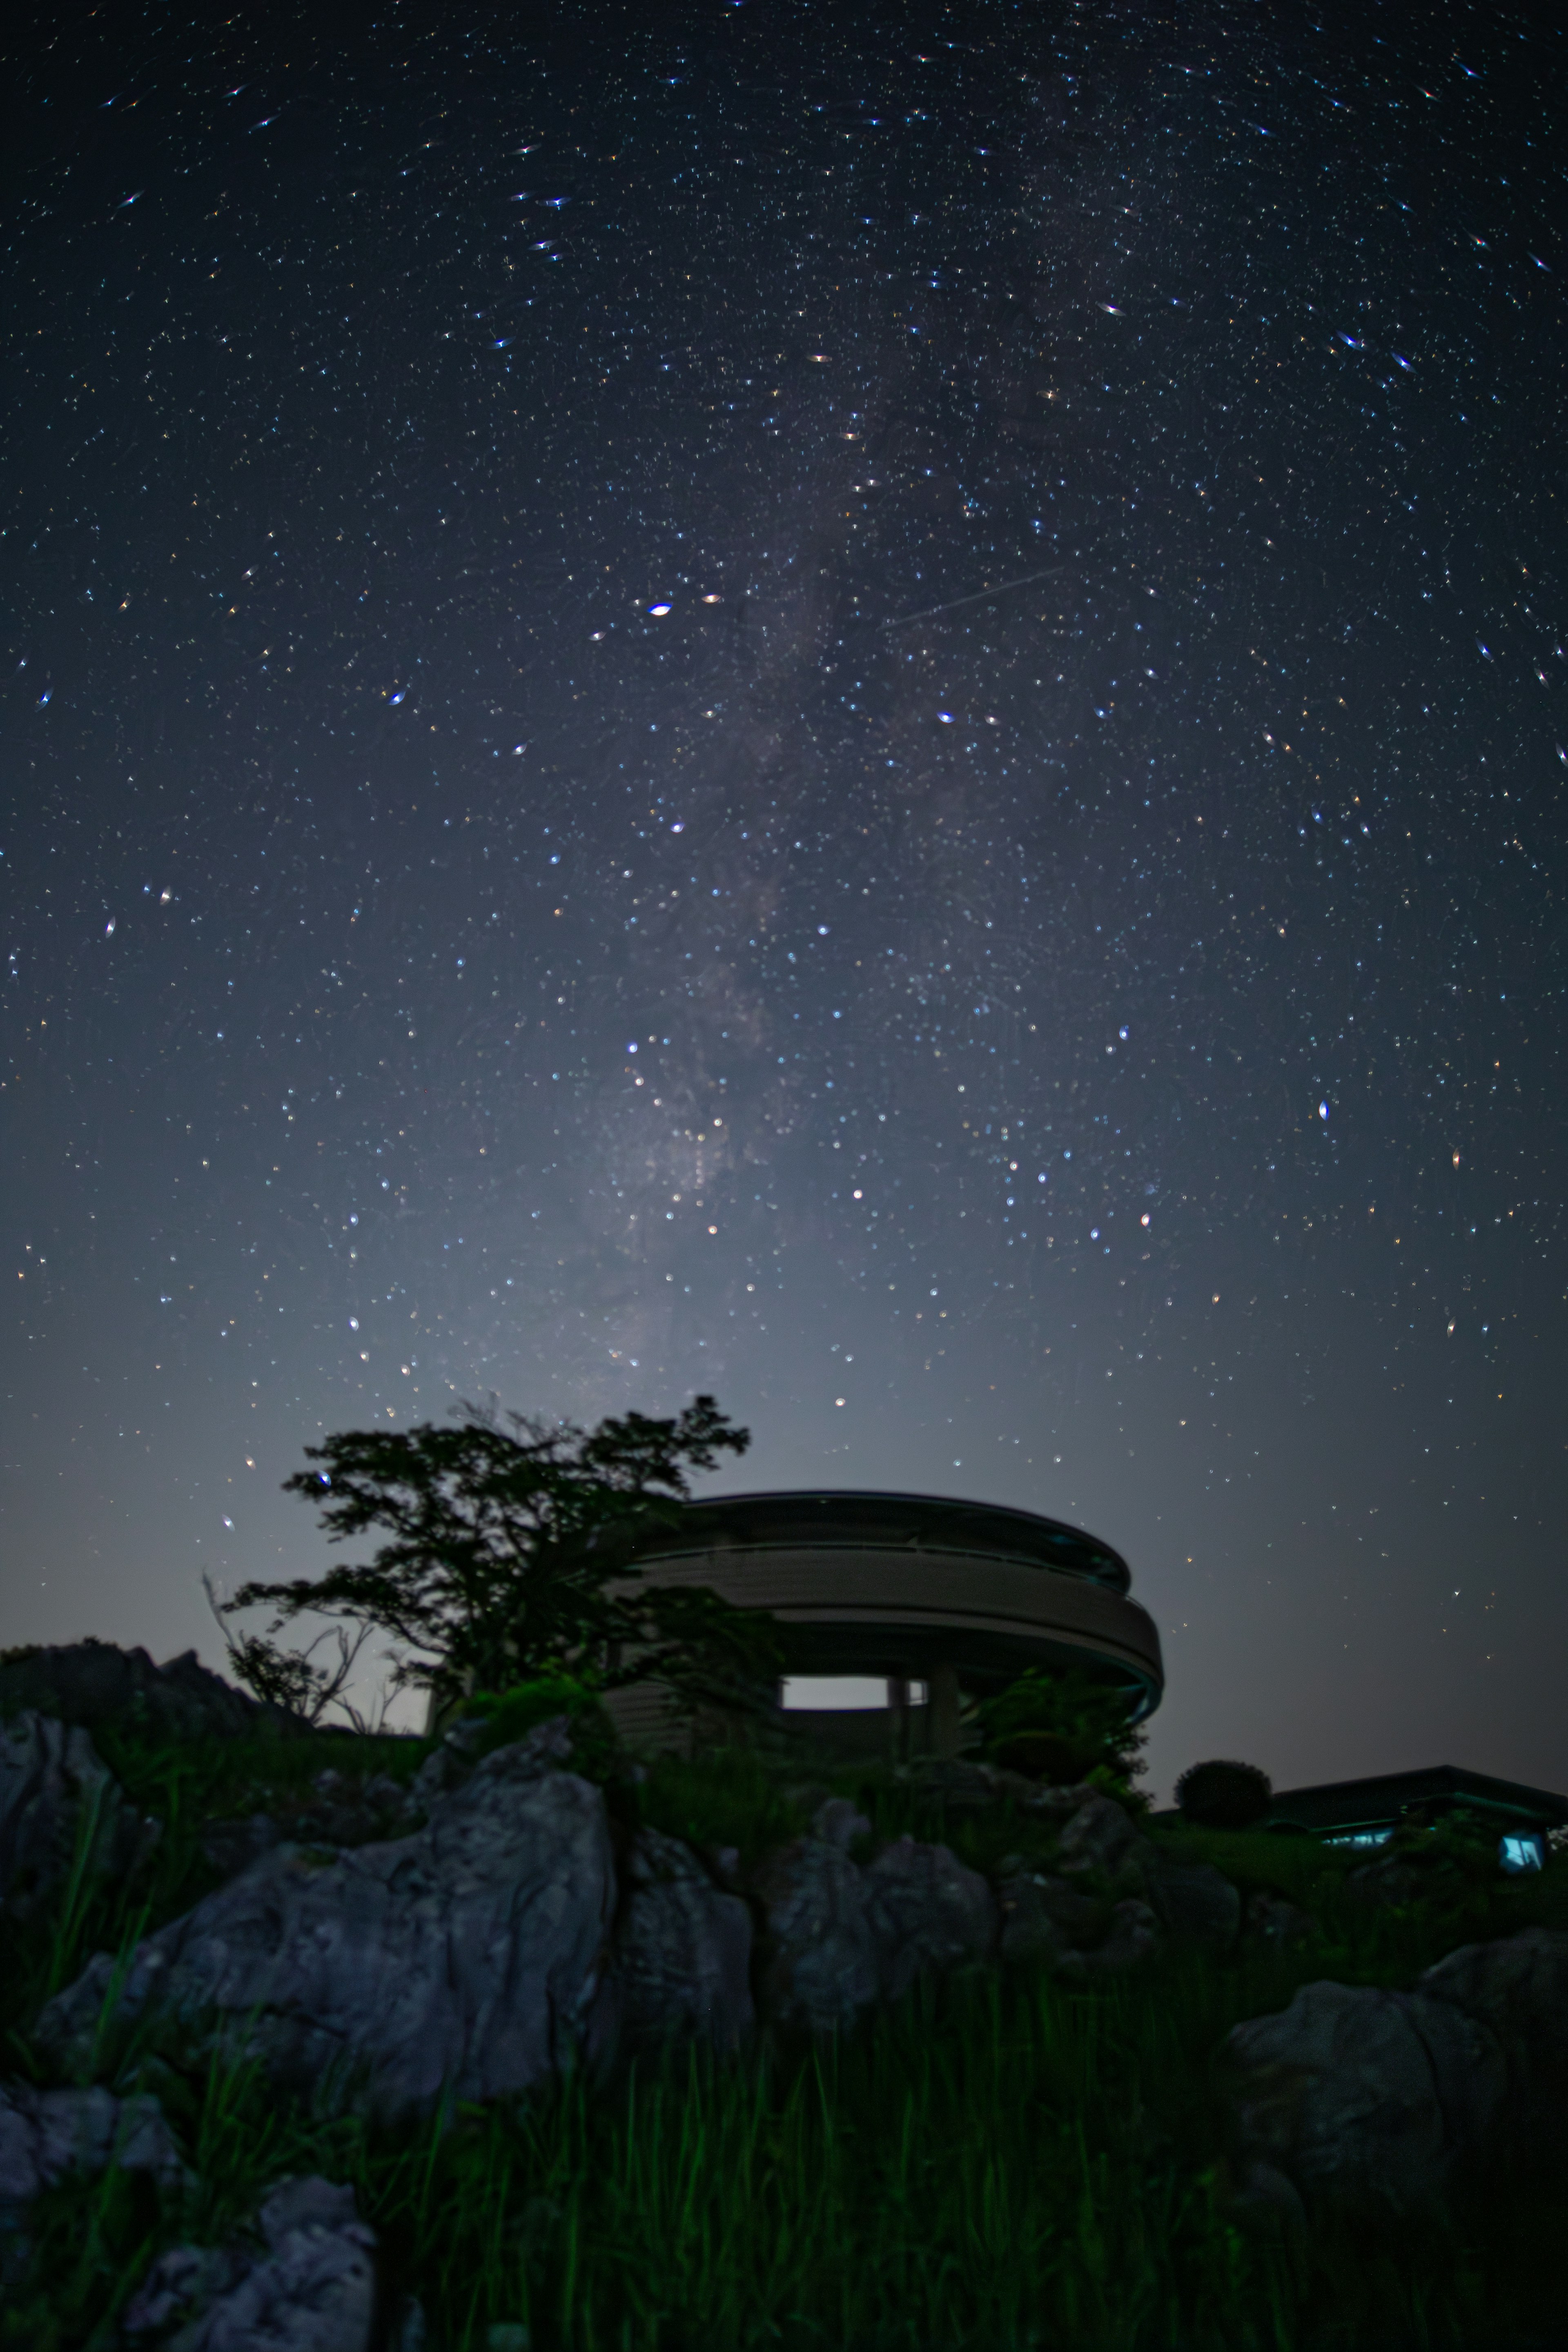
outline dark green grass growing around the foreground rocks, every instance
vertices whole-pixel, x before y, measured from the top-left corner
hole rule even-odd
[[[407,1750],[409,1771],[423,1752],[374,1748],[353,1762],[310,1748],[310,1771],[388,1769],[388,1748]],[[200,1882],[202,1806],[244,1809],[244,1773],[282,1769],[280,1750],[249,1762],[200,1750],[181,1773],[141,1757],[143,1795],[183,1806],[160,1889],[139,1898],[148,1924]],[[303,1762],[287,1769],[310,1776]],[[940,1828],[886,1776],[830,1778],[879,1835]],[[616,1802],[750,1856],[790,1835],[809,1799],[764,1762],[729,1757],[670,1759]],[[950,1842],[971,1858],[997,1839],[1023,1851],[1023,1828],[964,1816]],[[223,2237],[292,2171],[355,2185],[437,2352],[484,2352],[496,2324],[527,2326],[534,2352],[1563,2343],[1552,2249],[1568,2178],[1497,2178],[1441,2227],[1340,2223],[1305,2244],[1244,2232],[1225,2199],[1213,2063],[1232,2023],[1284,2006],[1309,1978],[1410,1983],[1469,1933],[1568,1924],[1568,1870],[1495,1882],[1486,1917],[1455,1933],[1441,1903],[1356,1907],[1347,1863],[1312,1839],[1154,1835],[1314,1910],[1321,1938],[1232,1959],[1168,1952],[1093,1987],[1034,1969],[976,1973],[823,2049],[764,2042],[731,2067],[670,2058],[614,2093],[578,2077],[395,2136],[313,2122],[244,2070],[165,2070],[155,2089],[200,2173],[193,2209],[118,2176],[42,2199],[0,2345],[108,2352],[113,2314],[158,2246]],[[63,1893],[33,1945],[92,1947],[106,1900]],[[12,2006],[9,2023],[26,2063],[26,2011]]]

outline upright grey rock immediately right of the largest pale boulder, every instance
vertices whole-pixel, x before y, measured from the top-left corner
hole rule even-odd
[[[755,2023],[752,1915],[722,1893],[691,1846],[642,1830],[621,1863],[616,1938],[588,2025],[588,2051],[607,2058],[661,2042],[741,2046]]]

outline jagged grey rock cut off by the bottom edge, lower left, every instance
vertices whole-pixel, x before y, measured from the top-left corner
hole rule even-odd
[[[263,2246],[174,2246],[132,2296],[132,2345],[167,2352],[369,2352],[376,2232],[355,2192],[284,2180],[256,2216]],[[407,2345],[404,2324],[404,2345]]]

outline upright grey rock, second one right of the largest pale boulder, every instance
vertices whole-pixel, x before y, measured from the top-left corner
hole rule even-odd
[[[752,1891],[766,1922],[766,2013],[818,2034],[851,2025],[882,1985],[865,1872],[842,1846],[797,1837],[769,1853]]]

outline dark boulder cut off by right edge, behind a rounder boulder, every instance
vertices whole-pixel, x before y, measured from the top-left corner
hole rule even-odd
[[[1561,2138],[1568,2107],[1568,1931],[1528,1926],[1495,1943],[1467,1943],[1418,1983],[1448,2002],[1502,2051],[1512,2143]]]

